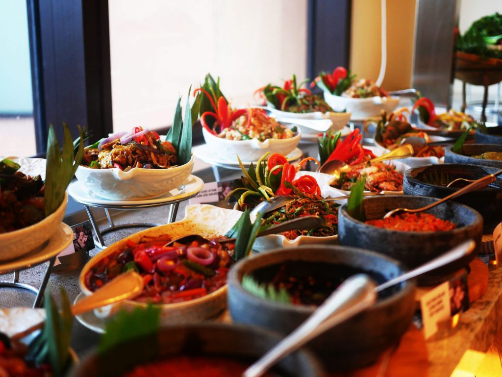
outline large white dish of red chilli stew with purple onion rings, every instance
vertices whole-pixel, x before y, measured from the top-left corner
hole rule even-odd
[[[234,245],[214,240],[224,236],[241,215],[211,205],[189,205],[183,220],[135,233],[92,258],[80,274],[80,289],[90,295],[122,272],[134,269],[144,278],[143,293],[136,300],[96,309],[96,315],[107,317],[119,307],[146,307],[147,302],[161,306],[161,321],[166,324],[216,315],[225,307],[226,273],[234,261]],[[189,234],[209,241],[164,246]]]

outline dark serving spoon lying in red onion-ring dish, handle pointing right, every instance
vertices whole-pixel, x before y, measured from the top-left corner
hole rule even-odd
[[[273,225],[270,228],[267,228],[265,230],[262,230],[257,234],[257,237],[262,237],[264,235],[269,235],[269,234],[277,234],[281,232],[285,232],[288,230],[302,230],[302,229],[312,229],[312,228],[317,228],[323,224],[324,220],[320,216],[316,215],[311,215],[311,216],[302,216],[298,217],[292,220],[284,221],[280,224]],[[222,238],[218,239],[217,241],[219,243],[224,243],[224,242],[233,242],[237,238]],[[189,234],[185,235],[182,237],[178,237],[175,239],[170,240],[168,243],[165,244],[165,246],[171,246],[174,242],[179,242],[179,243],[190,243],[193,241],[198,241],[199,243],[202,242],[209,242],[210,240],[199,235],[199,234]]]

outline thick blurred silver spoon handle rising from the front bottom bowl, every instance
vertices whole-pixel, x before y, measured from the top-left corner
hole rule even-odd
[[[359,274],[348,278],[295,331],[249,366],[242,377],[261,376],[282,357],[321,332],[371,306],[376,297],[374,283],[367,275]]]

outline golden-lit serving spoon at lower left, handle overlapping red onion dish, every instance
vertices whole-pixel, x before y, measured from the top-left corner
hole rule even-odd
[[[140,274],[128,271],[118,275],[115,279],[106,283],[92,295],[84,297],[71,307],[71,314],[79,315],[102,306],[110,305],[118,301],[135,298],[143,292],[144,282]],[[12,339],[19,340],[31,334],[33,331],[44,327],[44,322],[37,323],[28,329],[18,332]]]

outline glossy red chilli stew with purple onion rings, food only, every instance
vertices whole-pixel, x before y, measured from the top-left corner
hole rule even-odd
[[[162,235],[143,236],[139,243],[128,240],[126,247],[90,269],[86,286],[95,291],[118,275],[135,270],[145,283],[136,301],[170,304],[205,296],[226,284],[235,243],[210,240],[165,246],[170,239]]]

